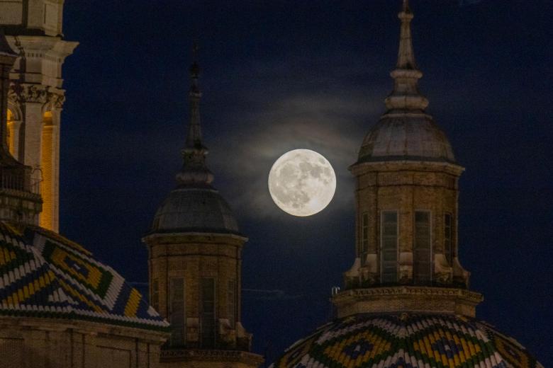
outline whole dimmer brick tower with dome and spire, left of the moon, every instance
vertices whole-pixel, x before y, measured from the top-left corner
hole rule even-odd
[[[242,246],[228,203],[213,188],[200,126],[199,66],[190,68],[190,120],[184,164],[143,238],[150,304],[171,323],[162,367],[258,367],[240,322]]]

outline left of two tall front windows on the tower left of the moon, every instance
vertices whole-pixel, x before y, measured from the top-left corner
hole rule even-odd
[[[184,316],[184,279],[169,280],[169,323],[171,323],[171,345],[181,346],[186,342],[186,319]]]

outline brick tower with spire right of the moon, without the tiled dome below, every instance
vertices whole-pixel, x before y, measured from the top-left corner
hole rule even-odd
[[[357,162],[356,259],[337,294],[338,314],[435,311],[474,316],[481,295],[457,253],[458,181],[464,168],[418,91],[408,1],[399,13],[398,62],[386,113]],[[350,290],[348,293],[347,290]],[[364,290],[364,292],[357,292]]]

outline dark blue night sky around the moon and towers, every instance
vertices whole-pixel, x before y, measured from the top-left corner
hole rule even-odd
[[[242,323],[269,362],[328,321],[354,256],[354,163],[384,113],[400,0],[66,1],[60,231],[144,289],[140,238],[174,186],[199,38],[202,125],[214,185],[244,251]],[[552,0],[412,0],[420,91],[460,181],[459,253],[484,293],[478,317],[553,360]],[[272,163],[313,149],[333,202],[291,217]]]

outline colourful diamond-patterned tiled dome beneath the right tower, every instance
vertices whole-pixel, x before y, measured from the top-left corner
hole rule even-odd
[[[269,368],[543,368],[512,338],[455,315],[356,314],[289,347]]]

